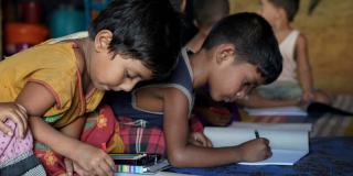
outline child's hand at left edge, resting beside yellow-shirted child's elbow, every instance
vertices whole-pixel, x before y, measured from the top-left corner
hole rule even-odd
[[[4,122],[10,119],[19,128],[20,138],[23,138],[28,128],[28,114],[24,107],[14,102],[0,102],[0,131],[12,136],[12,131]]]

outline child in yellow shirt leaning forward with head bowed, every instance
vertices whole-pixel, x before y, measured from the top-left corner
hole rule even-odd
[[[113,160],[78,141],[82,117],[96,109],[105,90],[130,91],[138,81],[169,75],[180,51],[179,28],[179,15],[165,0],[118,0],[93,21],[88,37],[49,41],[2,61],[0,102],[7,103],[0,103],[0,114],[7,117],[0,117],[0,130],[13,134],[4,127],[13,120],[24,136],[28,116],[49,175],[65,174],[53,152],[72,160],[79,175],[113,175]],[[1,172],[30,169],[21,167],[22,155],[8,160]],[[51,169],[58,162],[63,169]]]

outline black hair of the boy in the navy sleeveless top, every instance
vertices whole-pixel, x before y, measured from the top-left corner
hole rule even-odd
[[[277,79],[282,70],[282,56],[269,23],[256,13],[237,13],[222,19],[211,30],[203,48],[231,43],[236,59],[259,69],[265,84]]]

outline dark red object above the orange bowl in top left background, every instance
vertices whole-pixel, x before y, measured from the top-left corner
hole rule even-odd
[[[20,3],[22,21],[25,23],[40,23],[41,21],[41,4],[38,0],[29,0]]]

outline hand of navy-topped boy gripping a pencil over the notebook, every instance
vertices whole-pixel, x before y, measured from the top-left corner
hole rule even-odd
[[[244,162],[258,162],[266,160],[272,155],[267,139],[259,138],[239,145],[242,161]]]

